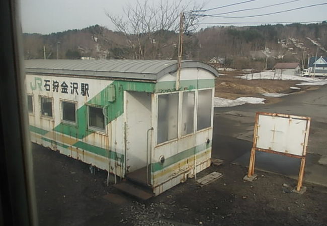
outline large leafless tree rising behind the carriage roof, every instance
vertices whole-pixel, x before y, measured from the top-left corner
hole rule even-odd
[[[173,57],[178,41],[177,35],[172,38],[168,34],[175,34],[179,30],[179,14],[187,10],[200,10],[202,7],[196,3],[182,5],[182,0],[172,3],[161,0],[157,4],[145,0],[133,5],[127,4],[123,8],[123,16],[113,16],[108,12],[106,15],[116,29],[126,35],[132,58],[169,59]],[[198,19],[199,16],[192,13],[186,14],[185,28],[188,31],[194,30]],[[175,48],[169,48],[167,53],[165,48],[172,46]]]

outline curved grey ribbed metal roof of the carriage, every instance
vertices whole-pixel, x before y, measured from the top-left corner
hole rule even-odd
[[[218,77],[212,66],[183,60],[182,68],[202,68]],[[177,60],[25,60],[27,73],[84,75],[111,78],[157,80],[176,72]]]

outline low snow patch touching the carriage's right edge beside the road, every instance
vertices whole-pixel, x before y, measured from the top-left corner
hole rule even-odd
[[[214,107],[232,107],[244,103],[261,103],[264,104],[265,98],[258,97],[239,97],[237,99],[225,99],[220,97],[214,98]]]

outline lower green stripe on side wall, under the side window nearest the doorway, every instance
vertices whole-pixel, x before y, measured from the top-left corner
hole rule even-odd
[[[97,154],[97,155],[101,155],[101,156],[106,157],[106,158],[110,158],[112,160],[117,161],[117,159],[119,158],[121,162],[124,161],[124,155],[123,154],[120,154],[120,153],[117,153],[117,152],[114,152],[114,151],[109,151],[107,149],[100,148],[100,147],[97,147],[97,146],[94,146],[94,145],[90,145],[90,144],[84,143],[82,141],[78,141],[77,143],[73,144],[72,146],[74,146],[76,148],[86,150],[88,152],[92,152],[92,153]]]

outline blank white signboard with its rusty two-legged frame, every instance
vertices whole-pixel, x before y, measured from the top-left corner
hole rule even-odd
[[[256,176],[254,174],[256,151],[300,158],[301,165],[296,186],[296,191],[300,192],[304,176],[310,121],[311,119],[308,117],[257,112],[249,171],[244,179],[252,181]]]

